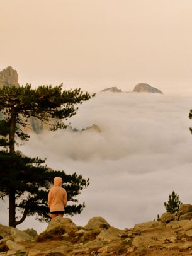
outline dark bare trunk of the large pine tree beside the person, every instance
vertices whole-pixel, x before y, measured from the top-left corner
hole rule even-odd
[[[11,113],[11,120],[10,120],[10,132],[9,132],[9,153],[14,154],[14,144],[15,144],[15,128],[16,128],[16,115]],[[10,184],[11,186],[11,184]],[[11,188],[9,190],[9,226],[16,227],[16,219],[15,219],[15,190]]]

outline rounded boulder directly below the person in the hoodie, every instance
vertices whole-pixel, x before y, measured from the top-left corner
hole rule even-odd
[[[58,229],[62,229],[64,233],[71,233],[71,232],[78,231],[76,224],[74,224],[71,219],[56,217],[55,219],[52,219],[50,224],[48,224],[45,232],[48,233]]]

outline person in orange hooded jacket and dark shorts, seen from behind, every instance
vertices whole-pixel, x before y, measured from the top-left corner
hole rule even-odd
[[[54,178],[54,186],[48,192],[48,207],[50,209],[51,218],[64,216],[65,206],[67,204],[67,192],[63,189],[62,178]]]

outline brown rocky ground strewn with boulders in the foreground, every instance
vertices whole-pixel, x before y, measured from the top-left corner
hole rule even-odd
[[[118,230],[101,217],[84,227],[69,218],[55,218],[40,235],[0,225],[0,256],[62,255],[192,255],[192,206],[177,214],[166,212],[159,221]]]

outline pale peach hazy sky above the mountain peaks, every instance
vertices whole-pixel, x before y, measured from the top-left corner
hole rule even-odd
[[[20,84],[189,93],[191,0],[0,0],[0,69]]]

